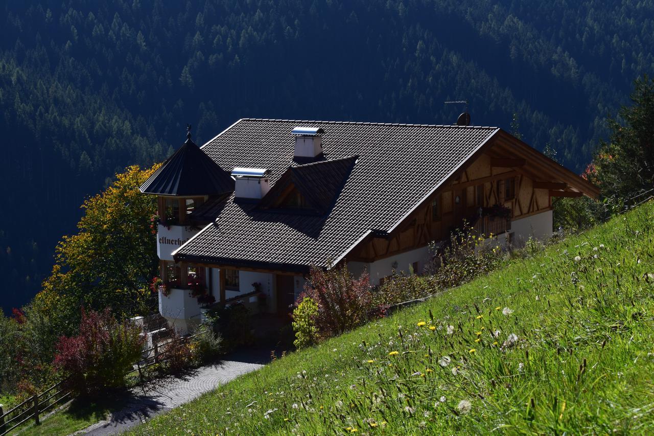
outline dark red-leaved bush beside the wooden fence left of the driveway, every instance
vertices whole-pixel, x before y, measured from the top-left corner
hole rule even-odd
[[[141,356],[145,338],[140,333],[128,320],[116,321],[109,308],[82,308],[79,335],[61,336],[54,365],[69,375],[68,387],[80,395],[120,388],[130,365]]]

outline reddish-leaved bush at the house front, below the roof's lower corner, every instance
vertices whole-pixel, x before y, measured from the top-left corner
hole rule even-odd
[[[315,325],[322,338],[340,335],[368,321],[372,309],[368,273],[354,278],[347,266],[330,270],[312,267],[298,304],[305,297],[318,306]]]

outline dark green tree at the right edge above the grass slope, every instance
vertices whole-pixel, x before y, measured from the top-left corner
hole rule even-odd
[[[611,136],[587,173],[607,198],[625,199],[654,187],[654,79],[634,82],[633,105],[609,118]]]

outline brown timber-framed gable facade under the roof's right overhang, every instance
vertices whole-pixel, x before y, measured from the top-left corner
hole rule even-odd
[[[551,210],[552,196],[577,196],[537,162],[541,156],[516,156],[509,144],[479,153],[434,191],[390,234],[371,234],[347,256],[347,261],[371,263],[440,242],[464,221],[479,217],[479,208],[499,204],[511,209],[511,221]],[[548,168],[549,169],[549,168]],[[536,174],[540,172],[540,177]],[[552,179],[550,179],[552,180]]]

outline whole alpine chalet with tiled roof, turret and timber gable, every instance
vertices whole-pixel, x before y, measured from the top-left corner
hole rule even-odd
[[[464,221],[548,238],[552,197],[598,195],[494,127],[241,119],[201,148],[187,136],[141,186],[159,201],[159,309],[182,333],[214,301],[287,313],[311,265],[372,285],[419,272]]]

